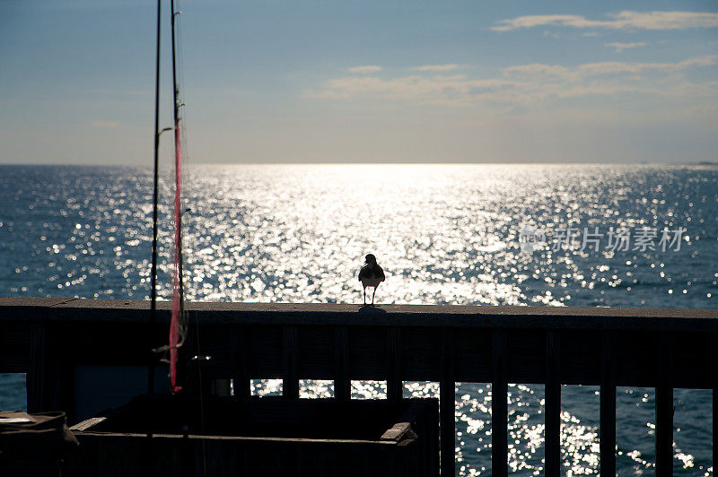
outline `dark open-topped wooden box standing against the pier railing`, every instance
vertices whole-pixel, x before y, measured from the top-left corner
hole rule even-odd
[[[438,402],[143,396],[71,428],[66,476],[432,476]]]

